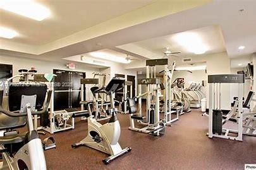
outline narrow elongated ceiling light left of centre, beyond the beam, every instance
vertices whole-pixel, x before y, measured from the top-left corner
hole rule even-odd
[[[116,55],[109,54],[106,52],[90,52],[89,54],[92,55],[92,57],[96,57],[96,58],[104,59],[104,60],[111,60],[113,62],[120,62],[123,64],[128,64],[131,62],[131,60],[126,60],[123,57],[118,57]]]

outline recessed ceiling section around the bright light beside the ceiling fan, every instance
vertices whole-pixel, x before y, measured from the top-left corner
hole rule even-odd
[[[219,26],[207,26],[205,28],[199,28],[196,30],[185,31],[173,35],[166,35],[164,37],[151,38],[149,40],[126,44],[119,48],[123,47],[123,50],[129,50],[128,46],[130,45],[133,47],[133,49],[135,49],[135,46],[138,46],[140,48],[143,48],[144,50],[150,51],[151,54],[149,55],[151,56],[147,55],[147,57],[150,58],[163,57],[163,52],[166,50],[166,47],[169,47],[169,50],[171,50],[171,52],[182,52],[181,54],[179,54],[181,57],[196,55],[193,54],[193,52],[190,52],[188,48],[180,45],[176,41],[175,38],[179,35],[185,35],[184,33],[189,35],[197,35],[197,37],[202,40],[202,43],[204,43],[204,45],[206,45],[208,48],[205,54],[224,52],[226,50],[221,33],[221,28],[219,28]],[[137,48],[138,53],[140,53],[140,48]]]

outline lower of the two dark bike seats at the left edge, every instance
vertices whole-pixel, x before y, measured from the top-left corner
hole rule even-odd
[[[17,144],[20,142],[24,142],[27,132],[23,132],[16,135],[8,135],[4,137],[0,137],[0,144]]]

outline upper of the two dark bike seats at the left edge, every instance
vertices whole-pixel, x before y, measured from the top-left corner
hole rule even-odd
[[[0,130],[24,127],[26,123],[26,118],[24,116],[11,117],[0,113]]]

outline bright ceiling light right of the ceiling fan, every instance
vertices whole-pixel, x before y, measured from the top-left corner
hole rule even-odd
[[[178,33],[174,40],[194,54],[204,54],[208,50],[196,33]]]

